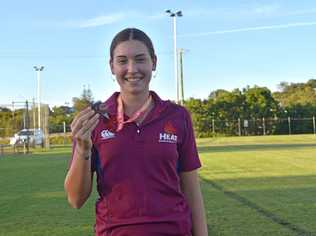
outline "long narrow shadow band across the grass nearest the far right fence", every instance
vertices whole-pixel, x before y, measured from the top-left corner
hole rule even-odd
[[[316,148],[316,144],[253,144],[253,145],[222,145],[222,146],[200,146],[199,153],[209,152],[246,152],[246,151],[266,151],[266,150],[289,150],[298,148]]]

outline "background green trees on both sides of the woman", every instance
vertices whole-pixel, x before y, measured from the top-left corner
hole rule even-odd
[[[76,113],[93,100],[92,91],[84,88],[79,97],[72,99],[72,106],[50,108],[49,132],[63,132],[63,124],[70,131]],[[184,106],[191,112],[198,137],[310,133],[316,116],[316,79],[306,83],[282,82],[277,92],[260,86],[232,91],[218,89],[207,99],[187,99]],[[0,137],[12,136],[23,129],[26,122],[32,127],[31,120],[37,118],[32,117],[33,114],[32,111],[27,113],[25,107],[15,110],[0,107]]]

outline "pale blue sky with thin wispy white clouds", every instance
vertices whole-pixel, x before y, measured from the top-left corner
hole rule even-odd
[[[41,101],[72,105],[84,86],[94,100],[119,87],[109,68],[114,35],[127,27],[145,31],[158,57],[150,89],[176,97],[173,21],[184,49],[185,98],[232,90],[306,82],[316,78],[316,1],[1,1],[0,106],[37,98],[33,66],[42,65]]]

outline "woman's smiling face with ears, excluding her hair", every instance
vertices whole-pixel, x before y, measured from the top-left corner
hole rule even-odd
[[[128,40],[115,47],[110,66],[121,92],[139,94],[149,90],[152,71],[156,69],[156,59],[151,59],[144,43]]]

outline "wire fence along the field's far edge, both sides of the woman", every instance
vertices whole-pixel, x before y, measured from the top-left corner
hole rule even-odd
[[[50,110],[47,104],[41,104],[40,114],[34,103],[12,102],[9,105],[0,104],[0,144],[9,144],[9,137],[21,129],[36,129],[44,131],[45,147],[50,144],[65,145],[71,142],[69,119],[66,124],[61,118],[58,122],[49,123]],[[67,114],[69,115],[69,114]],[[220,120],[205,118],[194,123],[197,136],[248,136],[277,134],[316,134],[315,116],[312,117],[274,117],[261,119]]]

